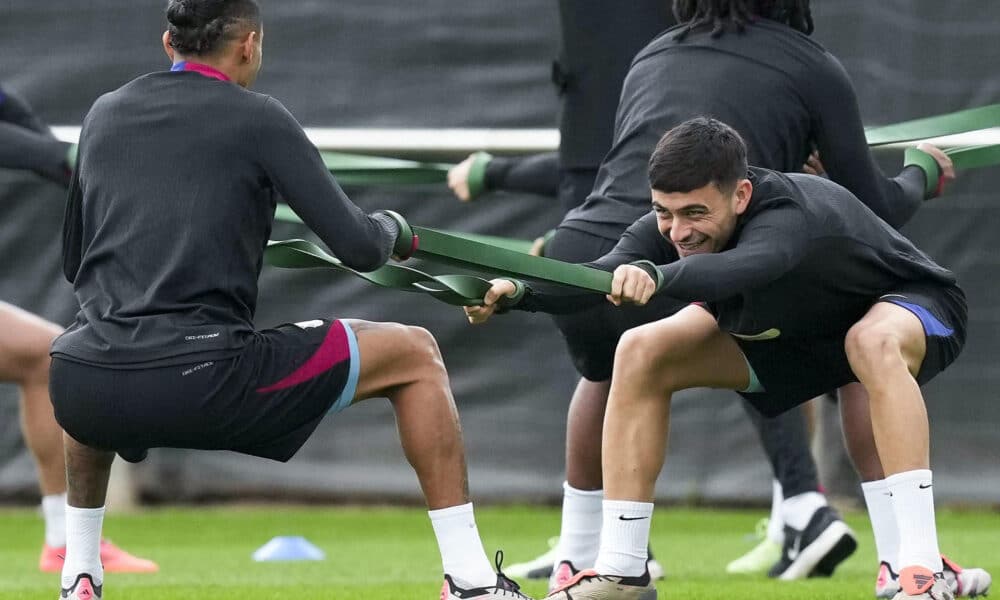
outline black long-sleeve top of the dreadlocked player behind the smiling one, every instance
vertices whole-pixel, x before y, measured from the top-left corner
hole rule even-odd
[[[735,128],[749,163],[782,172],[802,168],[813,146],[831,179],[894,227],[920,206],[924,174],[879,171],[865,140],[857,98],[843,67],[807,36],[761,19],[743,33],[684,40],[670,29],[636,56],[625,78],[613,146],[594,191],[563,226],[608,239],[649,211],[649,157],[672,127],[696,116]]]

